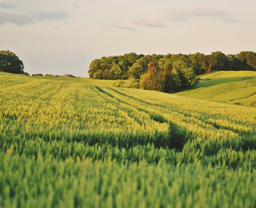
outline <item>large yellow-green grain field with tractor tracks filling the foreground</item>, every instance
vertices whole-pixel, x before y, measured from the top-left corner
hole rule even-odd
[[[256,207],[256,108],[7,73],[0,95],[2,207]]]

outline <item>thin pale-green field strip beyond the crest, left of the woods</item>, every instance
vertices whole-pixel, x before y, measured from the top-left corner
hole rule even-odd
[[[32,76],[31,78],[48,79],[55,81],[65,81],[65,82],[80,82],[84,84],[97,85],[97,86],[112,86],[116,80],[94,80],[90,78],[73,78],[73,77],[59,77],[59,76]]]

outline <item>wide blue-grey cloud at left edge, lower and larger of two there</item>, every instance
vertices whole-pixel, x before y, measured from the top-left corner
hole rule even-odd
[[[26,14],[0,12],[0,25],[5,24],[7,22],[12,22],[18,26],[24,26],[26,24],[34,24],[37,20],[61,20],[69,17],[70,15],[63,11],[37,11],[28,12]]]

